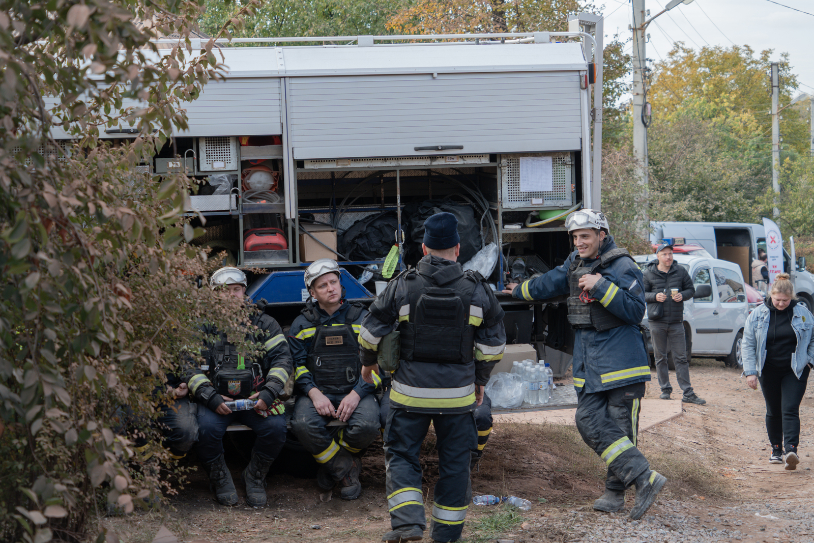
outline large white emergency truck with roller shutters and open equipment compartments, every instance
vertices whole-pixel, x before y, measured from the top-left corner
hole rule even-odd
[[[601,17],[580,14],[567,33],[221,42],[225,78],[185,104],[189,129],[145,169],[203,183],[191,199],[190,212],[206,217],[195,243],[264,269],[248,293],[292,318],[304,266],[322,256],[347,270],[348,299],[372,299],[373,282],[357,278],[380,273],[386,253],[346,257],[345,232],[394,212],[387,243],[403,266],[415,246],[405,209],[428,200],[474,210],[470,238],[497,246],[496,264],[480,269],[499,292],[518,257],[526,274],[561,264],[571,252],[567,213],[600,207],[601,29]],[[290,42],[308,45],[281,45]],[[499,299],[510,343],[570,350],[564,298]]]

